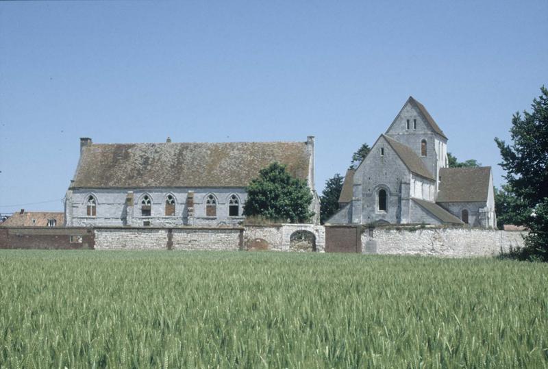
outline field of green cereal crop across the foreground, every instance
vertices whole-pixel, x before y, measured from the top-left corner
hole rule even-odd
[[[0,367],[548,367],[548,265],[0,251]]]

